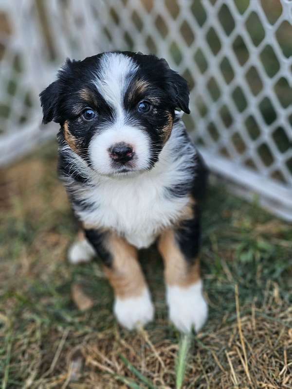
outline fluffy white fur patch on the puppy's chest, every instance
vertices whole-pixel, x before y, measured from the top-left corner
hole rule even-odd
[[[79,210],[79,217],[90,225],[118,231],[137,248],[148,247],[159,231],[180,216],[188,201],[166,196],[166,187],[178,172],[159,170],[102,179],[96,188],[84,191],[83,199],[92,207]]]

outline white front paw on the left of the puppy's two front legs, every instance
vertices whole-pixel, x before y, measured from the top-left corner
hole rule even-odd
[[[113,308],[119,323],[132,330],[153,320],[154,307],[150,293],[145,289],[143,294],[129,299],[116,298]]]

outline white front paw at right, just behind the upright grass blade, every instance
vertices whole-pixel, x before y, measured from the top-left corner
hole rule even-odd
[[[177,329],[188,333],[198,332],[208,316],[208,305],[202,295],[202,282],[188,287],[167,286],[166,299],[169,318]]]

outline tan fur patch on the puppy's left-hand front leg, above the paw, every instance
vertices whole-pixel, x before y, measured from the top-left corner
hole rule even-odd
[[[112,267],[104,268],[114,293],[121,299],[140,296],[146,282],[138,263],[137,250],[123,238],[111,234],[107,248],[113,256]]]

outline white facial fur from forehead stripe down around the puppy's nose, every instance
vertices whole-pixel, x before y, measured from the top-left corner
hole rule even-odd
[[[139,125],[127,123],[124,96],[133,79],[138,65],[121,53],[102,55],[94,85],[105,101],[113,109],[114,121],[100,127],[101,131],[93,136],[89,145],[92,166],[104,175],[114,172],[111,167],[109,149],[118,142],[125,142],[133,147],[135,153],[135,170],[146,169],[150,159],[150,139]]]

